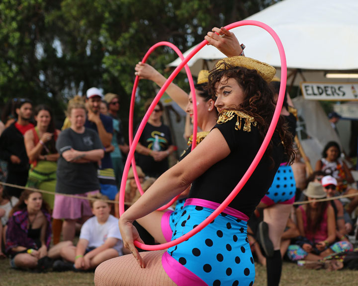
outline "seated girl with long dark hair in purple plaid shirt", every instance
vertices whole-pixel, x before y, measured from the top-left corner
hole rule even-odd
[[[10,256],[14,269],[39,267],[44,258],[60,257],[62,247],[69,242],[61,242],[50,249],[51,216],[48,204],[42,194],[24,190],[18,203],[9,214],[6,230],[5,251]],[[45,260],[46,261],[46,260]],[[48,268],[51,264],[41,265]]]

